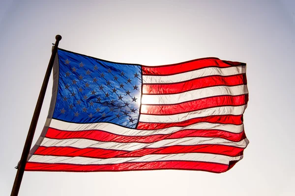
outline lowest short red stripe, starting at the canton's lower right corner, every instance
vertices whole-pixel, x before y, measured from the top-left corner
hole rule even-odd
[[[146,130],[153,130],[153,129],[162,129],[162,128],[168,128],[172,126],[188,126],[194,123],[224,123],[224,124],[242,124],[241,121],[242,115],[221,115],[221,116],[208,116],[208,117],[202,117],[202,118],[195,118],[190,119],[187,121],[182,121],[178,123],[145,123],[145,122],[139,122],[137,129],[146,129]]]

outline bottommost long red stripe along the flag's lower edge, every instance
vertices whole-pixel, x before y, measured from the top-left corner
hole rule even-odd
[[[28,162],[26,171],[48,171],[48,172],[115,172],[136,170],[201,170],[207,172],[226,172],[228,165],[193,162],[193,161],[158,161],[141,163],[120,163],[108,165],[74,165],[74,164],[46,164]]]

